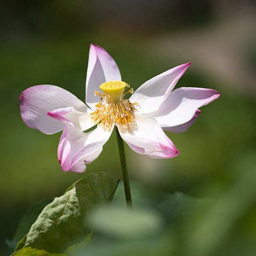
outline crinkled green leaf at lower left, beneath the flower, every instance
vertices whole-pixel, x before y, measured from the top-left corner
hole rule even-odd
[[[118,180],[104,172],[90,173],[75,182],[42,210],[28,232],[25,247],[63,253],[81,242],[90,231],[84,226],[84,215],[95,205],[111,201],[117,185]]]

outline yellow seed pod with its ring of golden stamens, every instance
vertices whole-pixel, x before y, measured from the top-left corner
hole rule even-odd
[[[95,95],[101,100],[95,105],[95,111],[91,113],[93,122],[100,123],[107,131],[110,131],[114,124],[123,131],[130,131],[135,125],[134,112],[138,103],[131,103],[123,97],[133,93],[133,89],[129,89],[129,84],[123,81],[104,82],[99,88],[104,94],[95,91]]]

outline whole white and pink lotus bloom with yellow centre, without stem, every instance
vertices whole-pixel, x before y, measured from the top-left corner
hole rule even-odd
[[[179,154],[164,131],[184,132],[201,106],[220,93],[204,88],[179,88],[176,83],[190,63],[144,82],[134,93],[121,80],[114,59],[91,45],[86,79],[86,104],[57,86],[30,87],[19,97],[23,121],[45,134],[63,131],[58,160],[62,170],[81,173],[99,156],[116,125],[122,139],[139,154],[171,158]],[[126,94],[132,94],[129,99]],[[97,124],[96,129],[84,132]]]

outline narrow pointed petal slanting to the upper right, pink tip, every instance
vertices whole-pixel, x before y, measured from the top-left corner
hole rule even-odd
[[[131,96],[130,101],[140,104],[141,114],[157,111],[190,65],[191,63],[185,63],[144,82]]]

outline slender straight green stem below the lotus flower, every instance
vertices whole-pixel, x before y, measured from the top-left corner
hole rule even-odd
[[[126,158],[125,158],[125,153],[124,153],[123,139],[121,138],[121,136],[118,132],[117,126],[116,126],[116,138],[117,138],[119,157],[120,157],[121,168],[122,168],[126,205],[127,205],[127,208],[132,209],[133,204],[132,204],[131,188],[130,188],[130,182],[129,182],[129,177],[128,177]]]

